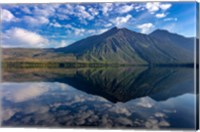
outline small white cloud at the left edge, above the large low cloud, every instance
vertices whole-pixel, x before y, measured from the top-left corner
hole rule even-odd
[[[9,10],[2,9],[2,21],[3,22],[17,21],[17,18]]]

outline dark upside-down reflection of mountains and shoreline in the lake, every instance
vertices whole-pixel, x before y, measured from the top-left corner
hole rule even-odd
[[[149,96],[156,101],[194,93],[190,68],[90,68],[11,70],[4,82],[60,82],[111,102]]]

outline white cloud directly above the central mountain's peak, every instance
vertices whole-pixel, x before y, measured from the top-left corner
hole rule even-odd
[[[110,21],[116,26],[121,26],[122,24],[127,23],[131,18],[132,16],[128,14],[125,17],[116,17]]]

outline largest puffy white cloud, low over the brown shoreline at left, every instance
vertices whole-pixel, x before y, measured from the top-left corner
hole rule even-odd
[[[45,47],[48,40],[43,36],[22,28],[12,28],[3,33],[4,47]]]

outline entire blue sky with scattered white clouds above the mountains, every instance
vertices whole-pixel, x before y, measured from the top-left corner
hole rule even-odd
[[[149,34],[196,33],[195,2],[1,5],[2,47],[58,48],[117,26]]]

